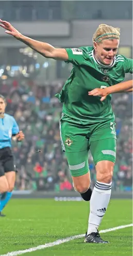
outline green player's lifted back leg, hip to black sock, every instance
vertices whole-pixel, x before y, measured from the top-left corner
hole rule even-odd
[[[60,122],[60,137],[62,149],[67,156],[74,189],[81,197],[89,201],[92,190],[90,188],[90,173],[88,166],[88,139],[85,129],[67,121]]]

